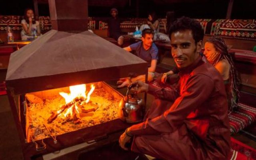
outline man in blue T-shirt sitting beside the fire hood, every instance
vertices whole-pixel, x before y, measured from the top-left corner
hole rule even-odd
[[[158,48],[153,43],[154,31],[152,29],[146,28],[142,31],[142,38],[140,42],[131,44],[128,47],[125,47],[124,50],[135,51],[135,54],[141,59],[148,62],[148,81],[152,81],[154,78],[154,72],[156,70],[156,63],[158,60]],[[132,82],[136,80],[145,81],[145,75],[140,75],[131,79]],[[117,84],[120,84],[118,88],[128,86],[130,80],[125,78],[119,80]]]

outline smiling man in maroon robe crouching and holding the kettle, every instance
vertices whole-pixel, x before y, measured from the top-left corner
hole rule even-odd
[[[133,137],[132,151],[156,158],[227,160],[230,132],[226,92],[219,72],[199,54],[203,36],[196,20],[182,17],[172,24],[170,39],[180,70],[179,86],[165,90],[136,82],[138,92],[154,94],[160,105],[151,106],[144,122],[126,129],[119,139],[122,148],[127,150],[125,144]],[[172,105],[166,106],[168,101]]]

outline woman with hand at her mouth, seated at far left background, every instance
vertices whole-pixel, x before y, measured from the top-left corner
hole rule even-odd
[[[39,22],[35,20],[32,9],[25,10],[24,19],[21,20],[21,24],[22,31],[20,34],[22,40],[34,39],[33,30],[36,32],[37,37],[41,35]]]

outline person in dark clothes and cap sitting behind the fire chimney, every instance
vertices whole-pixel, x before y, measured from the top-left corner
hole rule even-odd
[[[114,38],[118,45],[121,46],[124,43],[124,37],[121,36],[120,19],[118,18],[118,10],[112,8],[110,10],[111,18],[108,19],[108,32],[110,38]]]

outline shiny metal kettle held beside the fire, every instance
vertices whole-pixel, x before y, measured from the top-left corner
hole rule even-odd
[[[129,123],[141,122],[144,118],[144,102],[137,94],[128,94],[134,85],[128,86],[126,96],[119,102],[118,117]]]

